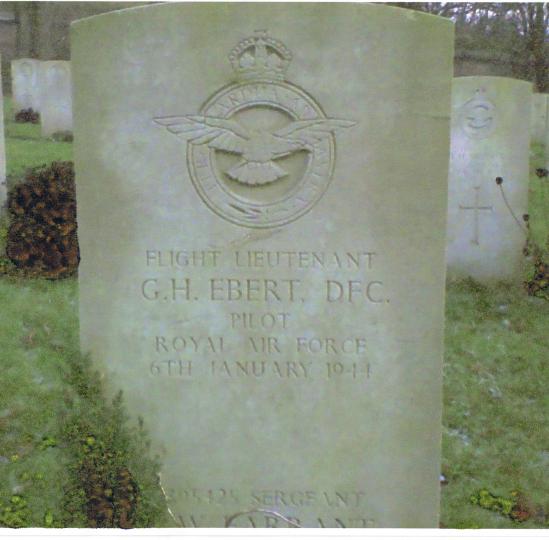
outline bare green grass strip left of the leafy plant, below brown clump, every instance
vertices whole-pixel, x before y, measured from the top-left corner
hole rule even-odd
[[[40,526],[48,512],[57,520],[59,479],[70,461],[56,441],[65,371],[77,344],[75,283],[1,280],[0,298],[0,523],[16,519],[8,510],[16,494],[27,503],[20,518]]]

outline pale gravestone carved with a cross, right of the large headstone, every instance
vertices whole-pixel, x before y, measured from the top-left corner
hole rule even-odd
[[[520,280],[528,211],[530,83],[458,77],[452,88],[448,275]],[[496,182],[501,178],[502,183]]]

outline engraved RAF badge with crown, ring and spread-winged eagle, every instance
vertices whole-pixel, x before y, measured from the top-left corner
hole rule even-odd
[[[187,142],[191,180],[222,218],[246,227],[283,225],[322,197],[335,165],[335,133],[355,125],[327,118],[320,105],[287,82],[292,54],[267,32],[230,53],[236,82],[199,114],[155,118]]]

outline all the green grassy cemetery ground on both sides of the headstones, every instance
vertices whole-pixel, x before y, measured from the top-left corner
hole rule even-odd
[[[15,124],[5,100],[9,185],[72,159],[72,145]],[[530,224],[549,234],[549,180],[531,160]],[[0,227],[4,250],[7,222]],[[0,525],[173,526],[146,426],[106,403],[78,347],[75,277],[0,268]],[[448,285],[441,526],[549,527],[549,302],[519,285]],[[421,391],[421,389],[418,389]],[[375,496],[375,495],[372,495]]]

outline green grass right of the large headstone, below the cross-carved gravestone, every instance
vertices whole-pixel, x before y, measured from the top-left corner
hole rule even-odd
[[[522,288],[447,292],[441,521],[451,528],[549,525],[549,302]],[[471,503],[524,493],[543,513],[523,523]]]

